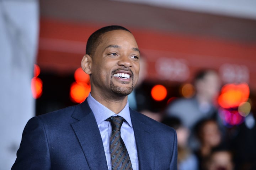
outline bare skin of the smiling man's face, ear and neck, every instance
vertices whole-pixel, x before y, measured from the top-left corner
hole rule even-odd
[[[90,75],[91,95],[118,114],[127,103],[139,77],[140,52],[134,36],[125,30],[103,34],[93,55],[85,55],[81,66]],[[127,73],[130,78],[114,77]]]

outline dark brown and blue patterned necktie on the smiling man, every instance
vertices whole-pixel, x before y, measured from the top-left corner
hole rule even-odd
[[[121,126],[124,118],[120,116],[112,116],[107,119],[111,122],[112,133],[110,136],[110,152],[112,170],[132,170],[132,163],[126,146],[121,138]]]

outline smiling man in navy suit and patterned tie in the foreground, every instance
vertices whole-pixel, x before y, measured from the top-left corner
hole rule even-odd
[[[129,109],[127,95],[138,80],[139,58],[137,42],[126,28],[108,26],[93,33],[81,63],[90,75],[89,97],[28,121],[12,169],[177,169],[175,130]],[[116,118],[119,123],[125,119],[122,140],[113,135],[120,136]],[[113,142],[113,136],[120,142]],[[113,152],[119,143],[123,147]],[[119,150],[125,156],[114,155]]]

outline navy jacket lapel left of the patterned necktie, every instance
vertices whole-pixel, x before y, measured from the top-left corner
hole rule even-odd
[[[87,101],[76,107],[73,117],[79,120],[71,126],[84,151],[90,169],[108,169],[100,131]]]

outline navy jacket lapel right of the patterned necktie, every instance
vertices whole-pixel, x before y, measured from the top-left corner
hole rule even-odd
[[[150,132],[150,125],[143,122],[142,115],[130,109],[140,170],[154,169],[155,137]]]

